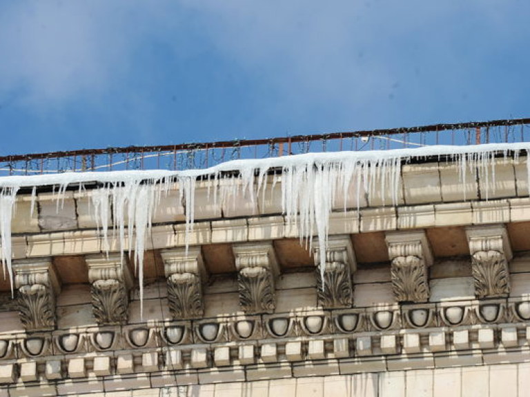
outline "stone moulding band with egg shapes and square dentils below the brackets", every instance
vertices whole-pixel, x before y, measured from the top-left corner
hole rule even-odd
[[[273,367],[326,375],[518,363],[529,354],[529,320],[527,299],[501,298],[9,334],[0,383],[167,374],[193,384],[282,378]]]

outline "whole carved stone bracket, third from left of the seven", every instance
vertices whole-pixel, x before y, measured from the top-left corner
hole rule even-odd
[[[175,320],[199,318],[204,314],[202,282],[206,270],[201,247],[161,252],[168,279],[168,303]]]

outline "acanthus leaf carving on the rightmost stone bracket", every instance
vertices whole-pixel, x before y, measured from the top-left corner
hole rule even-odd
[[[471,256],[471,269],[475,281],[475,295],[507,296],[510,292],[506,257],[498,251],[478,251]]]

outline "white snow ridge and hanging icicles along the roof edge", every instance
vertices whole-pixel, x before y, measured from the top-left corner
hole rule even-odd
[[[124,257],[124,238],[128,236],[129,254],[135,252],[135,269],[139,277],[140,296],[143,296],[144,243],[150,233],[153,213],[159,198],[168,190],[178,189],[185,207],[186,236],[193,229],[195,184],[197,179],[212,181],[210,199],[235,197],[237,192],[252,202],[264,198],[266,175],[271,170],[281,170],[282,210],[288,221],[297,222],[301,239],[311,246],[312,230],[316,227],[320,252],[324,252],[328,238],[328,220],[337,191],[344,192],[344,199],[351,184],[353,191],[360,192],[361,184],[366,192],[389,190],[392,203],[397,202],[397,183],[401,165],[406,161],[436,158],[455,162],[460,167],[460,180],[465,183],[467,167],[478,170],[481,180],[495,182],[495,161],[504,155],[518,157],[527,154],[530,143],[500,143],[471,146],[428,146],[400,150],[369,152],[326,152],[283,156],[268,159],[228,161],[204,170],[149,170],[117,172],[66,172],[35,176],[6,176],[0,178],[0,234],[1,258],[4,274],[6,269],[12,281],[11,267],[11,219],[16,205],[16,195],[21,187],[32,187],[32,211],[35,208],[39,186],[52,185],[57,199],[57,211],[68,186],[84,189],[86,183],[98,183],[92,192],[92,206],[108,250],[108,214],[112,213],[113,227],[121,242]],[[530,163],[527,169],[530,171]],[[227,174],[228,172],[228,174]],[[530,175],[530,172],[529,172]],[[224,188],[218,189],[219,182]],[[529,181],[530,182],[530,181]],[[228,190],[225,186],[228,185]],[[257,189],[253,187],[256,185]],[[529,183],[530,185],[530,183]],[[233,191],[230,192],[230,189]],[[220,192],[220,193],[219,193]],[[231,194],[230,194],[231,193]],[[346,200],[344,200],[346,202]],[[357,196],[357,206],[360,197]],[[126,227],[128,219],[130,227]],[[187,237],[186,237],[187,241]],[[324,271],[325,255],[320,256]]]

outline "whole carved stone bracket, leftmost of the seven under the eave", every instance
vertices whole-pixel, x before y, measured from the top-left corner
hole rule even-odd
[[[19,316],[26,331],[55,328],[55,298],[59,279],[48,259],[13,263]]]

